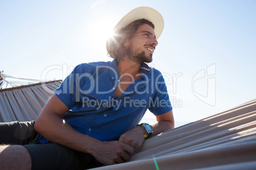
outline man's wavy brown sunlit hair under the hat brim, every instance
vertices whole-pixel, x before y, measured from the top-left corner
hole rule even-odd
[[[155,25],[153,25],[152,22],[145,19],[140,19],[129,23],[129,25],[120,30],[115,31],[113,37],[108,39],[110,45],[108,56],[119,61],[125,55],[125,41],[132,39],[136,30],[138,30],[139,25],[143,25],[145,23],[155,29]]]

